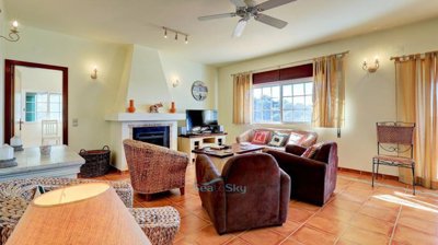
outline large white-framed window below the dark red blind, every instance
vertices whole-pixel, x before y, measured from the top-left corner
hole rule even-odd
[[[253,122],[310,122],[312,94],[311,78],[255,85]]]

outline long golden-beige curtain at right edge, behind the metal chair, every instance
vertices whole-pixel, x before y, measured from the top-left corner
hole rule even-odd
[[[397,120],[415,122],[416,183],[438,189],[438,52],[395,59]],[[412,183],[400,168],[401,182]]]

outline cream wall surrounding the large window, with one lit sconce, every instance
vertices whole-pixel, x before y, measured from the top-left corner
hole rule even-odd
[[[395,119],[395,77],[390,57],[438,49],[438,19],[389,31],[377,32],[348,39],[316,45],[275,56],[230,65],[219,69],[219,122],[229,132],[228,141],[253,126],[232,124],[232,73],[307,60],[314,57],[349,50],[346,57],[346,126],[342,138],[336,129],[315,128],[319,140],[338,143],[339,166],[371,171],[371,158],[376,154],[376,121]],[[365,58],[380,59],[380,69],[368,74],[361,69]],[[284,127],[307,128],[303,125]],[[395,175],[397,170],[382,171]]]

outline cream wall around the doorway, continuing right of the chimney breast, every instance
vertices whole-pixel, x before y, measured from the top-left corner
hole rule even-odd
[[[118,97],[126,94],[119,88],[123,79],[128,75],[126,71],[130,69],[127,62],[130,58],[129,46],[79,38],[32,26],[21,26],[20,33],[20,42],[4,44],[5,58],[69,68],[69,144],[73,150],[96,149],[108,143],[110,122],[104,117],[114,110]],[[0,54],[1,51],[0,46]],[[3,58],[1,56],[2,60]],[[216,107],[216,68],[174,58],[169,54],[162,55],[161,59],[169,86],[169,78],[175,74],[181,77],[181,85],[169,89],[178,112],[186,108]],[[94,66],[99,69],[97,80],[90,78]],[[1,69],[3,67],[1,65]],[[2,81],[3,70],[0,77]],[[207,82],[211,89],[209,98],[205,102],[195,102],[191,95],[188,88],[195,80]],[[1,86],[3,88],[3,82]],[[3,94],[3,89],[0,92]],[[3,106],[0,114],[4,114]],[[72,127],[73,118],[79,119],[79,127]],[[3,125],[0,129],[0,135],[2,133]]]

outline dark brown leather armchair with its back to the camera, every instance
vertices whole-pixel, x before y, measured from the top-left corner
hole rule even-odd
[[[203,207],[219,234],[286,222],[290,178],[272,155],[232,156],[222,174],[206,155],[196,159]]]

